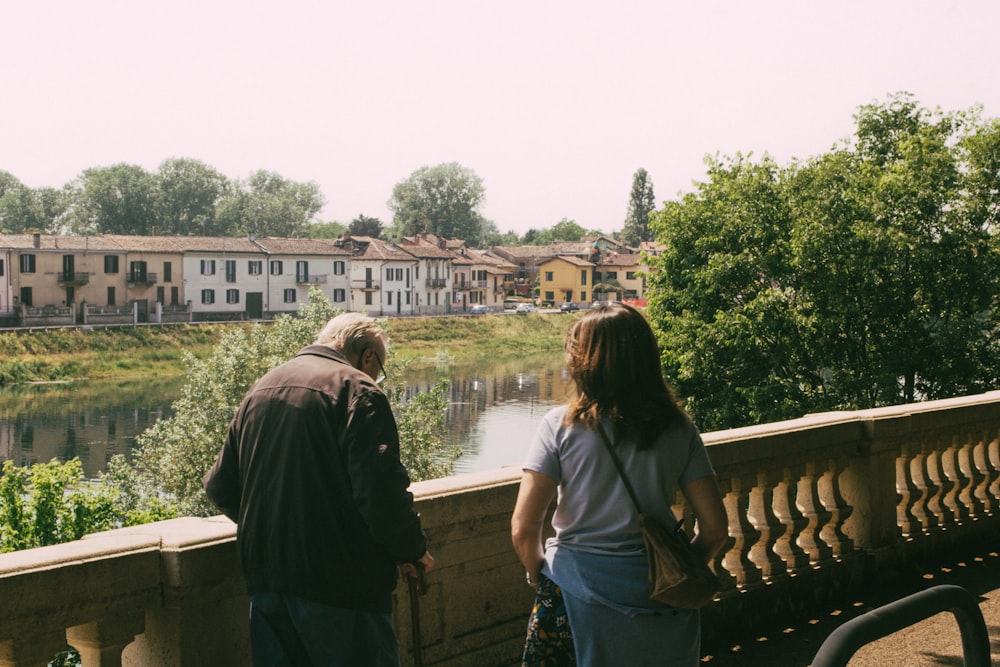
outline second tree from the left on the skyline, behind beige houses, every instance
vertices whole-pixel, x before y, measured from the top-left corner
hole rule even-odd
[[[156,224],[158,186],[142,167],[86,169],[80,178],[73,230],[83,234],[149,234]]]

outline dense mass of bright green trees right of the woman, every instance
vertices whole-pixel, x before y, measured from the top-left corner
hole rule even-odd
[[[649,314],[704,428],[995,388],[1000,126],[899,94],[780,167],[710,161],[653,216]]]

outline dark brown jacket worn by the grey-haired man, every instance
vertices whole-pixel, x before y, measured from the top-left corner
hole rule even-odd
[[[325,345],[253,386],[203,481],[251,594],[389,612],[397,564],[427,548],[385,395]]]

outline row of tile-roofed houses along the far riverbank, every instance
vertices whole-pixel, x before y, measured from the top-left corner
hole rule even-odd
[[[399,241],[0,234],[0,320],[8,326],[270,319],[310,288],[383,315],[641,298],[642,255],[607,238],[477,250],[421,234]]]

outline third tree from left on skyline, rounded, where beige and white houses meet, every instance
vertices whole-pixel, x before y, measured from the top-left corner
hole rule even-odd
[[[223,235],[216,221],[216,207],[225,196],[229,180],[198,160],[164,160],[157,174],[158,234]]]

